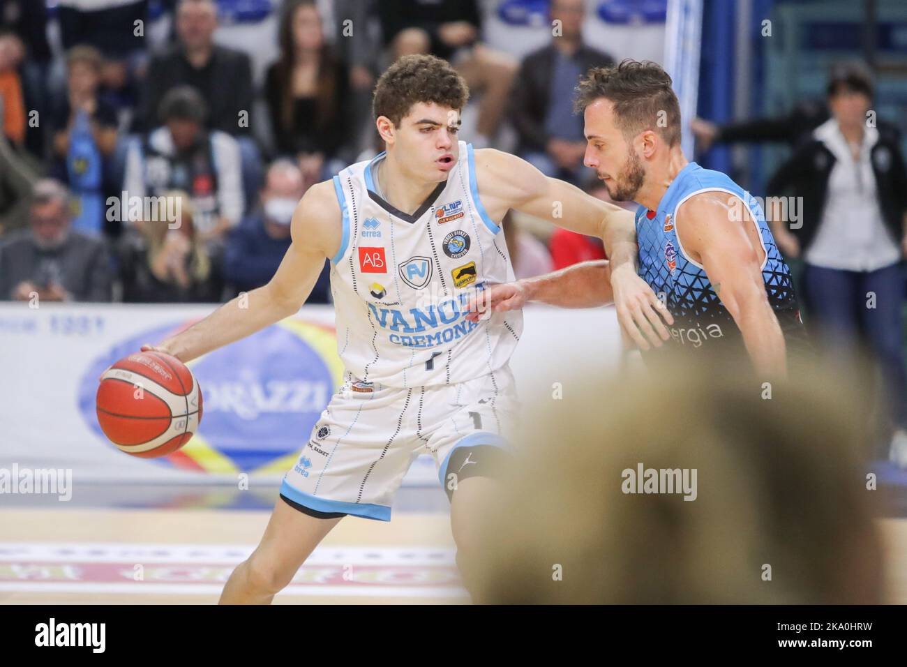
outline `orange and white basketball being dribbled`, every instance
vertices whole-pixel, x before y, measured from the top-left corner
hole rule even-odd
[[[137,352],[101,377],[95,401],[104,435],[126,454],[172,454],[199,430],[201,389],[180,359]]]

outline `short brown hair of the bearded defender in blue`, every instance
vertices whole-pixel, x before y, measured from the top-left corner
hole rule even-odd
[[[604,97],[614,103],[617,126],[625,137],[652,130],[668,146],[680,142],[680,103],[661,65],[628,58],[616,67],[595,67],[576,90],[577,113]]]

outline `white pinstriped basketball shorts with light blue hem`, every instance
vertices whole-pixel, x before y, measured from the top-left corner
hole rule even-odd
[[[347,373],[280,495],[309,515],[390,521],[394,495],[416,456],[434,457],[445,490],[454,486],[448,473],[488,474],[479,471],[493,469],[489,460],[500,465],[512,453],[503,436],[518,409],[507,366],[459,384],[408,389]]]

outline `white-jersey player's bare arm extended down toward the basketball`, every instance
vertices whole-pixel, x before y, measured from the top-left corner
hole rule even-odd
[[[245,338],[295,313],[340,247],[340,206],[331,181],[313,185],[299,201],[290,227],[292,243],[274,277],[229,300],[207,318],[167,338],[158,349],[186,362]]]

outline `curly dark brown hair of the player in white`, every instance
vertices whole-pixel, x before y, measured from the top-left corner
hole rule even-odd
[[[414,104],[435,103],[463,109],[469,88],[450,63],[434,55],[405,55],[387,68],[375,84],[372,111],[395,126]]]

